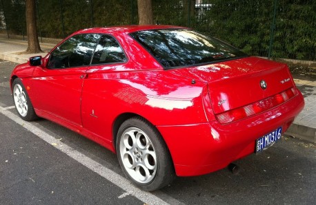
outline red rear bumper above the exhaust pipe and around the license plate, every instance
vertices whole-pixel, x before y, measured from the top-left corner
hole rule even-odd
[[[254,153],[257,138],[281,126],[285,132],[303,108],[304,98],[299,92],[282,105],[227,125],[214,120],[157,129],[168,145],[177,175],[202,175]]]

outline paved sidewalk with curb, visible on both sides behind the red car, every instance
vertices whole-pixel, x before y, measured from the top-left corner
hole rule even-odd
[[[6,39],[0,35],[0,59],[14,63],[26,63],[30,56],[46,56],[48,51],[56,45],[55,43],[40,44],[43,50],[41,54],[19,54],[28,47],[27,41]],[[295,118],[286,135],[316,143],[316,80],[303,79],[295,76],[295,83],[305,99],[305,107],[302,113]]]

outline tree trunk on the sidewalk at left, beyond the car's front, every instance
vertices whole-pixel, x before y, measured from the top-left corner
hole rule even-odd
[[[37,35],[35,0],[26,0],[26,32],[28,35],[26,52],[29,54],[43,52],[39,46],[39,37]]]

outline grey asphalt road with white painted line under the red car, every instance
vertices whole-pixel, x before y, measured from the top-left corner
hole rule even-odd
[[[23,122],[0,60],[0,204],[316,204],[315,144],[284,137],[223,169],[139,191],[115,154],[48,120]],[[192,153],[194,154],[194,153]]]

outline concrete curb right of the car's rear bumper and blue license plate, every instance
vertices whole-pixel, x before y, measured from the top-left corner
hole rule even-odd
[[[316,143],[316,129],[313,127],[293,124],[288,128],[285,134],[302,140],[307,140],[308,142]]]

